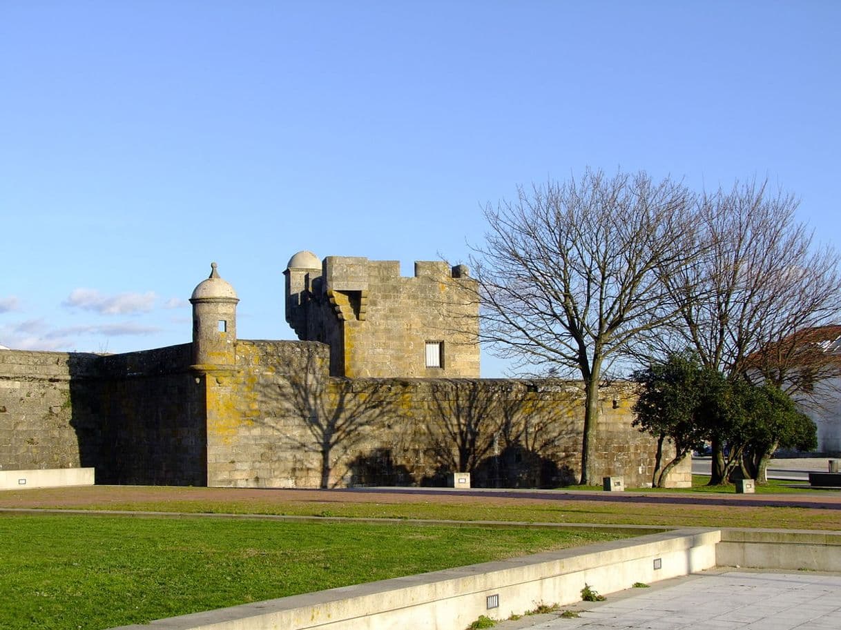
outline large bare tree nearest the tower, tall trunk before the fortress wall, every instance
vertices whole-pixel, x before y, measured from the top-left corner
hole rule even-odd
[[[488,206],[489,231],[471,266],[481,305],[481,339],[515,370],[566,371],[584,387],[582,484],[594,484],[599,386],[612,360],[674,316],[664,275],[694,259],[676,244],[692,223],[693,195],[643,172],[518,190]]]

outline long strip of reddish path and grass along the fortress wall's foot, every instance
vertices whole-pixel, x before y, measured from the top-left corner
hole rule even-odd
[[[701,478],[703,480],[703,478]],[[703,481],[702,481],[703,482]],[[602,525],[654,525],[662,527],[731,527],[841,530],[841,510],[824,509],[798,501],[800,496],[837,493],[770,486],[782,494],[775,505],[737,499],[733,488],[696,487],[694,490],[640,489],[635,496],[622,492],[580,494],[571,489],[548,492],[540,499],[489,495],[458,496],[447,493],[406,496],[372,493],[326,492],[297,498],[295,492],[193,489],[172,486],[90,486],[66,489],[30,489],[0,492],[0,507],[59,507],[87,510],[256,514],[305,517],[442,519],[446,521],[504,521],[597,523]],[[200,496],[197,496],[200,491]],[[763,492],[759,491],[759,492]],[[677,500],[669,500],[669,494]],[[729,494],[729,496],[727,496]],[[650,500],[649,500],[650,497]],[[364,501],[360,502],[360,499]],[[693,501],[696,499],[697,501]]]

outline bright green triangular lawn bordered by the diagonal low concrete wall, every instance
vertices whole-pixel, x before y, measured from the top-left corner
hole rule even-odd
[[[0,627],[99,630],[562,549],[612,533],[2,516]]]

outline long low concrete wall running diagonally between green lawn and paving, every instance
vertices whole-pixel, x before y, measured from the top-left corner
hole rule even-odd
[[[537,603],[571,604],[589,584],[606,594],[716,564],[721,533],[684,529],[394,580],[346,586],[124,626],[140,630],[452,630],[479,615],[506,619]],[[488,598],[499,606],[488,609]]]

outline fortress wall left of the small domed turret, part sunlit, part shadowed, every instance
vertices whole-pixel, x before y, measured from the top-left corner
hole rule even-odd
[[[98,483],[204,485],[204,389],[190,349],[0,350],[0,469],[81,466]]]

